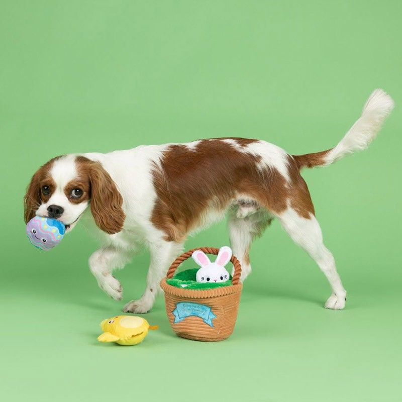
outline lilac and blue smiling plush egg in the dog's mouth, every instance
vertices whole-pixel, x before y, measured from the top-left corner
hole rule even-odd
[[[52,218],[35,217],[27,223],[29,241],[41,250],[50,250],[60,243],[66,227],[62,222]]]

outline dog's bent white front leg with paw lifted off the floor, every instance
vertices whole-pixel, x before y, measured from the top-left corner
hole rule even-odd
[[[115,300],[122,299],[123,289],[120,282],[112,276],[112,272],[116,268],[123,268],[131,257],[130,252],[112,246],[100,248],[89,257],[89,269],[97,284]]]

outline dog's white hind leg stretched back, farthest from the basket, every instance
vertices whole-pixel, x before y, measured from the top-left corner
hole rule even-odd
[[[310,214],[309,218],[304,218],[288,208],[278,214],[278,219],[292,240],[313,258],[327,277],[332,294],[325,308],[342,310],[345,307],[346,290],[336,270],[334,257],[324,246],[323,235],[316,217]]]

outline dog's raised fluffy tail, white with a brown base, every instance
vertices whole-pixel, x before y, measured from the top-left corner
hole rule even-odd
[[[306,155],[293,155],[299,168],[327,166],[354,151],[366,149],[376,137],[383,121],[391,113],[394,103],[382,89],[375,89],[364,105],[360,119],[331,149]]]

